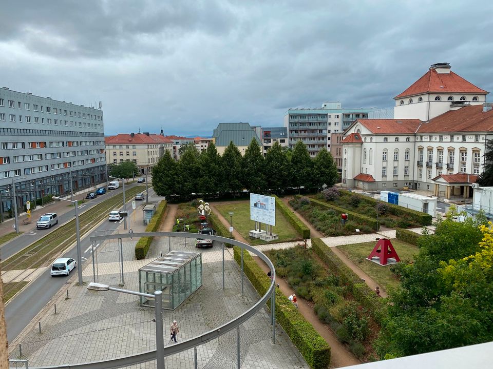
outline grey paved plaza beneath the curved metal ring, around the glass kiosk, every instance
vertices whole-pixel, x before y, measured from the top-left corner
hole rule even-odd
[[[168,239],[156,238],[145,260],[134,259],[137,239],[123,242],[125,289],[138,291],[139,268],[168,251]],[[172,238],[172,250],[197,251],[192,239]],[[99,282],[118,287],[120,283],[117,242],[107,241],[98,247]],[[225,290],[222,290],[222,251],[202,250],[203,285],[176,311],[163,311],[165,344],[169,326],[177,320],[178,341],[210,331],[249,309],[259,296],[248,279],[241,296],[241,277],[232,250],[225,250]],[[84,264],[84,281],[92,280],[92,263]],[[10,358],[22,358],[29,366],[48,366],[117,358],[154,350],[154,309],[139,305],[138,297],[113,291],[89,291],[75,285],[76,273],[67,280],[66,289],[27,326],[10,346]],[[66,290],[69,299],[66,298]],[[54,304],[57,314],[54,315]],[[42,333],[38,329],[41,321]],[[240,360],[242,368],[308,368],[307,363],[277,326],[276,344],[272,344],[270,313],[262,308],[240,327]],[[199,368],[236,367],[236,330],[197,347]],[[166,358],[168,368],[193,368],[193,350]],[[153,368],[155,361],[132,367]]]

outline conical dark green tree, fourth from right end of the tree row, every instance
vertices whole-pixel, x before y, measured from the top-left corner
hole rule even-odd
[[[258,141],[252,138],[241,158],[242,183],[250,192],[262,194],[266,190],[263,163],[264,159]]]

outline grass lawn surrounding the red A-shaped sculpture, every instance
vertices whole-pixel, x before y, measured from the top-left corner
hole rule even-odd
[[[388,291],[389,287],[395,288],[399,285],[399,279],[390,271],[390,266],[382,267],[372,261],[366,260],[375,247],[376,242],[375,240],[374,242],[342,245],[337,246],[337,249],[342,251],[359,269],[368,274],[375,282]],[[412,244],[398,239],[392,239],[391,242],[402,261],[414,260],[414,255],[419,252],[418,247]]]

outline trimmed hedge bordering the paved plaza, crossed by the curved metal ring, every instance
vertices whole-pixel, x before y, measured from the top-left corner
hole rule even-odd
[[[234,247],[234,257],[238,264],[241,248]],[[248,252],[243,253],[243,268],[260,296],[266,294],[271,284],[270,278],[262,271]],[[294,307],[288,298],[276,294],[276,319],[311,368],[327,368],[330,363],[330,346]]]

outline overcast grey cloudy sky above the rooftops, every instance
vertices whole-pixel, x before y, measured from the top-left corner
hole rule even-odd
[[[323,101],[390,107],[444,61],[493,91],[491,1],[0,0],[0,9],[0,84],[101,100],[106,134],[282,126],[288,108]]]

